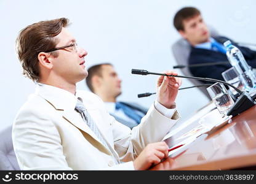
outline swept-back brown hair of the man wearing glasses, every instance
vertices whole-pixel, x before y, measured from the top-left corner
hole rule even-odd
[[[56,47],[57,40],[54,37],[62,31],[63,27],[68,26],[68,21],[67,18],[39,21],[20,31],[16,39],[16,50],[23,67],[23,75],[38,82],[38,54]],[[58,52],[50,54],[58,56]]]

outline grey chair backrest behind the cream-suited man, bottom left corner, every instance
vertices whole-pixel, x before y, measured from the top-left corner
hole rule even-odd
[[[12,126],[0,132],[0,171],[20,170],[12,145]]]

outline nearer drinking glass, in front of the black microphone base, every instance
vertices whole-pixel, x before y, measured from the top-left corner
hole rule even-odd
[[[221,113],[222,117],[225,117],[228,110],[234,104],[234,101],[228,93],[228,90],[226,90],[223,83],[217,82],[209,86],[207,91],[210,94],[212,101],[214,101],[218,111]]]

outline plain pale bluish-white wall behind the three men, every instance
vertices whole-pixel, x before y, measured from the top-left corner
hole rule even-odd
[[[256,43],[256,1],[205,0],[94,0],[14,1],[0,0],[0,131],[12,124],[34,83],[22,75],[15,39],[18,31],[41,20],[67,17],[78,44],[88,51],[87,67],[111,62],[122,79],[120,100],[149,106],[154,96],[138,99],[138,93],[155,91],[157,76],[132,75],[135,69],[162,72],[175,60],[170,45],[180,36],[172,26],[175,12],[185,6],[198,7],[209,25],[236,41]],[[183,87],[191,83],[183,80]],[[79,89],[87,90],[84,82]],[[183,118],[207,104],[198,89],[180,91],[177,104]]]

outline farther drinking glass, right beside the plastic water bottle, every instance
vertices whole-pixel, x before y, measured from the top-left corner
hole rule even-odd
[[[238,88],[239,90],[243,91],[244,90],[244,85],[242,83],[242,81],[239,78],[239,74],[236,71],[236,69],[234,69],[234,67],[231,67],[230,69],[226,70],[225,72],[222,72],[222,77],[223,79],[230,83],[231,85],[235,86],[236,88]],[[238,94],[238,91],[234,90],[233,88],[230,87],[230,92],[236,96],[236,94]]]

